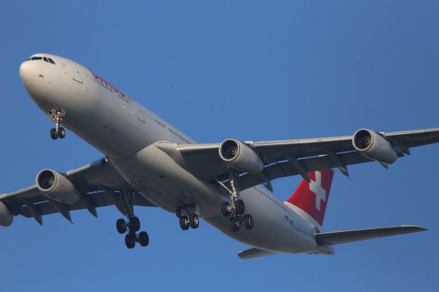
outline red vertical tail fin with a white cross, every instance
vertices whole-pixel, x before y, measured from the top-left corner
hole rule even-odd
[[[313,223],[318,230],[321,230],[334,171],[325,169],[310,172],[308,175],[311,182],[302,180],[285,204],[302,218]]]

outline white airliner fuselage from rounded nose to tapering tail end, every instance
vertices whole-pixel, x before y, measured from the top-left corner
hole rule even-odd
[[[241,191],[254,228],[230,230],[220,204],[228,201],[218,186],[181,167],[158,143],[195,143],[175,127],[84,66],[49,54],[56,64],[29,60],[20,67],[27,92],[44,112],[64,110],[62,124],[102,151],[139,193],[175,212],[179,202],[195,204],[200,217],[233,239],[273,252],[332,253],[314,239],[314,226],[268,191]]]

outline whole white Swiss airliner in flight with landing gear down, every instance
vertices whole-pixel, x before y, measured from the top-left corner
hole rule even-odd
[[[55,126],[67,128],[104,154],[78,169],[43,169],[36,184],[0,195],[0,225],[14,217],[115,205],[126,217],[116,222],[126,247],[147,246],[134,206],[159,207],[178,217],[182,230],[200,218],[224,234],[251,245],[243,259],[278,253],[334,254],[334,245],[426,230],[391,226],[322,232],[333,169],[349,176],[348,165],[379,162],[388,168],[410,148],[439,142],[439,128],[405,132],[357,130],[350,136],[283,141],[198,144],[173,125],[84,66],[36,53],[20,66],[23,86]],[[286,202],[272,195],[271,181],[301,175]]]

